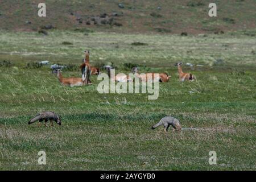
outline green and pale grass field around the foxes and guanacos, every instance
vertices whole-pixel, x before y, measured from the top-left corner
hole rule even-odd
[[[195,36],[84,34],[0,32],[1,170],[256,169],[252,36],[239,31]],[[138,64],[141,72],[167,72],[171,80],[160,83],[158,100],[147,100],[147,94],[99,94],[96,76],[93,85],[64,87],[49,66],[28,64],[70,64],[75,68],[64,70],[64,77],[80,77],[84,49],[90,50],[92,65],[113,64],[116,72],[128,73],[123,63]],[[179,82],[174,64],[180,61],[197,81]],[[27,125],[44,110],[59,113],[63,125]],[[183,127],[202,130],[151,130],[165,115],[180,119]],[[46,151],[46,165],[38,164],[40,150]],[[209,165],[209,151],[217,152],[217,165]]]

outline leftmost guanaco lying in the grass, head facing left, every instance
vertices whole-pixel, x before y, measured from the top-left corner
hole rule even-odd
[[[52,71],[52,73],[57,73],[57,77],[59,78],[59,81],[61,82],[61,84],[65,85],[65,86],[82,86],[85,84],[85,82],[82,80],[82,78],[75,78],[75,77],[71,77],[71,78],[63,78],[60,69],[55,69]]]

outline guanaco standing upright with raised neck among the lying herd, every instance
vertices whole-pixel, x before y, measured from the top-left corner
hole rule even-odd
[[[91,68],[90,68],[90,63],[89,63],[89,55],[90,51],[84,51],[85,52],[85,61],[84,63],[80,66],[81,71],[82,71],[82,80],[85,82],[85,84],[91,84],[92,82],[90,81],[90,73],[91,73]]]

